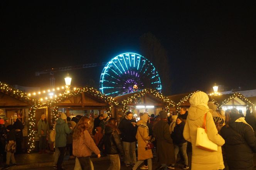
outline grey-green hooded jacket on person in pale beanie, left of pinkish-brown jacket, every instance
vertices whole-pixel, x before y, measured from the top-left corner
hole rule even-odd
[[[67,134],[71,133],[72,130],[68,127],[65,120],[59,118],[56,121],[56,136],[55,136],[55,147],[66,147],[67,145]]]

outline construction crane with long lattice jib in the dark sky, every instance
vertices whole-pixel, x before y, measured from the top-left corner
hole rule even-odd
[[[89,68],[89,67],[97,67],[97,66],[102,66],[102,65],[106,65],[106,64],[107,64],[107,62],[102,62],[102,63],[91,63],[91,64],[74,65],[74,66],[59,67],[59,68],[50,68],[50,69],[43,70],[41,72],[35,72],[35,76],[39,76],[40,74],[49,73],[51,75],[50,87],[54,87],[55,86],[54,72],[76,70],[76,69]]]

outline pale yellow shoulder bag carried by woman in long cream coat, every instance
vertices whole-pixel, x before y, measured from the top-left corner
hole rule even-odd
[[[211,140],[209,140],[207,136],[207,130],[206,130],[206,114],[204,114],[204,122],[203,127],[197,128],[197,138],[195,142],[195,146],[202,149],[207,150],[210,152],[214,152],[218,150],[218,145]]]

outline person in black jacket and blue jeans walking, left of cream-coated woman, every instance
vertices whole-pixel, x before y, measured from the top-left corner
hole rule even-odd
[[[183,137],[183,130],[185,127],[185,122],[181,117],[177,117],[176,119],[176,125],[174,127],[174,130],[171,134],[173,144],[174,144],[174,154],[175,154],[175,159],[177,161],[177,154],[179,153],[179,150],[182,153],[182,156],[184,158],[184,167],[183,169],[188,169],[189,168],[189,162],[188,162],[188,157],[187,157],[187,141]]]

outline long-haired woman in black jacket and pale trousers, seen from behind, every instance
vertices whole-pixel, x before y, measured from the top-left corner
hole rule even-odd
[[[103,140],[101,140],[98,145],[99,148],[101,148],[103,144],[105,146],[105,153],[110,159],[110,167],[108,167],[108,170],[120,170],[121,165],[119,153],[121,153],[121,155],[124,154],[119,130],[116,125],[116,119],[109,118],[108,124],[105,127]]]

